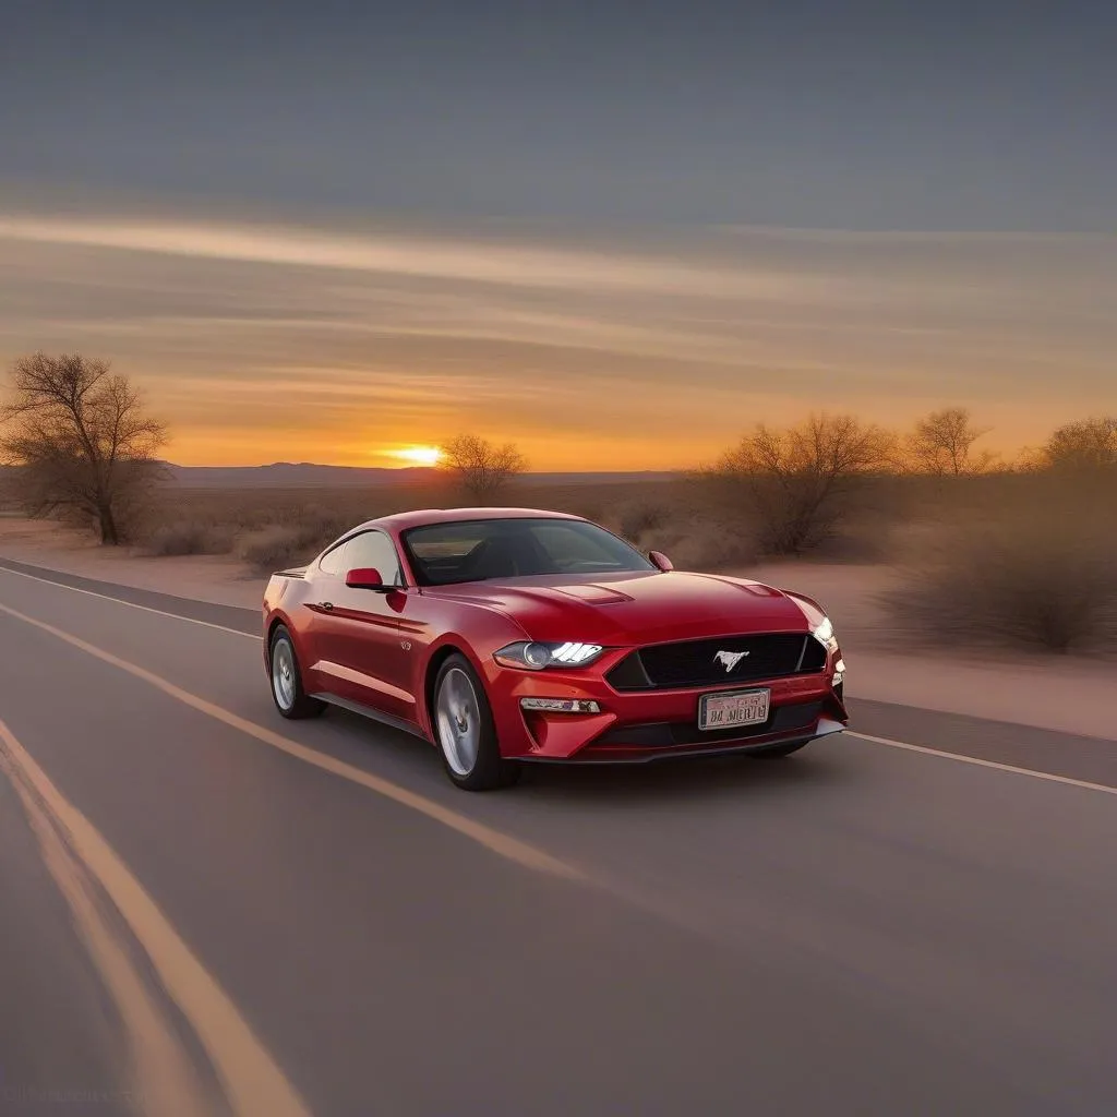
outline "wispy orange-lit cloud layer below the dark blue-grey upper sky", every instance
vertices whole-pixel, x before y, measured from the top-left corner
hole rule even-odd
[[[1031,440],[1111,399],[1114,305],[1111,238],[0,213],[0,357],[112,357],[182,460],[469,426],[541,466],[685,464],[758,418],[958,400]]]

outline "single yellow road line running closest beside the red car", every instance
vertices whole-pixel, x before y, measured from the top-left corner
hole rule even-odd
[[[427,799],[424,795],[417,794],[413,791],[408,791],[407,787],[402,787],[399,784],[393,783],[391,780],[384,780],[381,776],[372,775],[372,773],[365,772],[363,768],[359,768],[353,764],[346,764],[344,761],[326,756],[313,748],[307,747],[306,745],[299,744],[290,737],[285,737],[283,734],[276,733],[274,729],[268,729],[262,725],[257,725],[255,722],[250,722],[248,718],[241,717],[239,714],[233,714],[232,710],[228,710],[222,706],[208,701],[198,695],[191,694],[189,690],[183,690],[182,687],[175,686],[175,684],[171,682],[169,679],[164,679],[161,675],[156,675],[154,671],[149,671],[146,668],[140,667],[137,663],[132,663],[126,659],[121,659],[120,656],[114,656],[111,651],[106,651],[104,648],[98,648],[96,645],[92,645],[88,641],[83,640],[80,637],[76,637],[70,632],[56,628],[54,624],[48,624],[46,621],[40,621],[35,617],[28,617],[26,613],[21,613],[18,610],[12,609],[10,605],[0,604],[0,612],[4,612],[9,617],[15,617],[17,620],[31,624],[44,632],[49,632],[57,639],[63,640],[71,647],[78,648],[90,656],[94,656],[102,662],[111,663],[113,667],[117,667],[122,671],[126,671],[128,675],[132,675],[137,679],[143,679],[144,682],[151,684],[151,686],[162,690],[166,695],[170,695],[172,698],[178,699],[183,705],[190,706],[192,709],[197,709],[218,722],[223,722],[233,729],[239,729],[247,736],[255,737],[257,741],[260,741],[266,745],[270,745],[273,748],[277,748],[279,752],[286,753],[288,756],[294,756],[307,764],[313,764],[317,768],[331,772],[334,775],[341,776],[343,780],[351,781],[352,783],[360,784],[362,787],[366,787],[369,791],[374,791],[376,794],[383,795],[385,799],[390,799],[393,802],[408,806],[420,814],[424,814],[427,818],[433,819],[436,822],[440,822],[442,825],[464,834],[466,838],[470,838],[479,846],[484,846],[486,849],[506,858],[509,861],[515,861],[516,863],[528,869],[534,869],[537,872],[547,872],[570,880],[585,879],[582,871],[575,866],[552,857],[550,853],[529,844],[528,842],[521,841],[518,838],[513,838],[510,834],[495,830],[493,827],[488,827],[484,822],[477,822],[466,814],[461,814],[448,806],[442,806],[441,803],[437,803],[432,799]]]

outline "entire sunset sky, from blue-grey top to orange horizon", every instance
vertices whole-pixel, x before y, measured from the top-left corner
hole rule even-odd
[[[1113,6],[11,11],[0,360],[111,359],[178,462],[1117,410]]]

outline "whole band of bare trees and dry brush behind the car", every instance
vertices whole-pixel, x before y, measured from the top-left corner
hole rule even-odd
[[[0,505],[151,556],[305,563],[363,519],[526,505],[588,516],[682,569],[887,565],[903,640],[1111,655],[1117,649],[1117,417],[1053,430],[1012,460],[962,407],[886,430],[851,414],[758,423],[666,480],[544,485],[516,446],[462,433],[429,480],[370,488],[190,489],[161,474],[165,428],[107,363],[35,354],[0,410]]]

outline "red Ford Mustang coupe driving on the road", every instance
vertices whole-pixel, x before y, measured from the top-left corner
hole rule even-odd
[[[271,575],[264,634],[284,717],[333,704],[397,726],[470,791],[528,761],[786,756],[849,720],[817,602],[553,512],[361,524]]]

